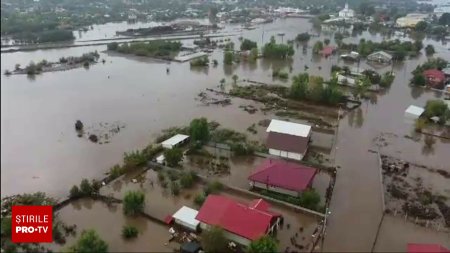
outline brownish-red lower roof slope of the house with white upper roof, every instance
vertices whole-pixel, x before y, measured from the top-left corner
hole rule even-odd
[[[308,149],[308,142],[309,138],[277,132],[269,132],[269,135],[267,136],[266,146],[272,149],[304,154]]]

